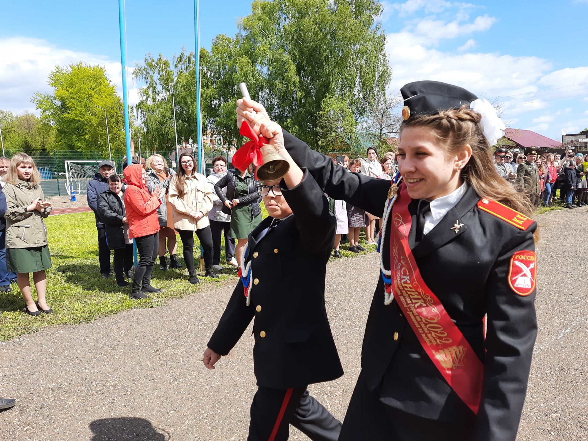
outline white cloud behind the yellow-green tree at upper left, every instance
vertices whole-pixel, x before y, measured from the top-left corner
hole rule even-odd
[[[51,92],[47,76],[56,65],[66,66],[83,61],[101,65],[106,76],[117,86],[122,96],[121,63],[103,55],[69,51],[36,38],[0,38],[0,96],[1,108],[15,113],[38,113],[31,98],[35,92]],[[128,69],[129,103],[138,101],[138,89],[133,86],[132,68]]]

